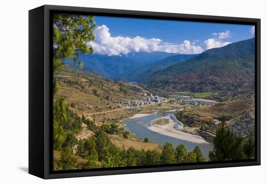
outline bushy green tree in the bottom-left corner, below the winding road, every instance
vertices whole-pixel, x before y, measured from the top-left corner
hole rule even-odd
[[[77,159],[73,157],[73,151],[69,147],[65,147],[60,153],[60,166],[62,170],[73,170]]]

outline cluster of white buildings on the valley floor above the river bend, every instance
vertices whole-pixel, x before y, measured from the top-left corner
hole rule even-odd
[[[143,105],[149,105],[151,103],[160,103],[164,102],[166,100],[165,97],[160,97],[158,95],[153,96],[152,93],[144,93],[142,94],[144,97],[144,101],[142,100],[134,100],[134,101],[114,101],[113,103],[116,105],[125,105],[125,106],[131,106],[131,107],[136,107],[136,106],[143,106]]]

